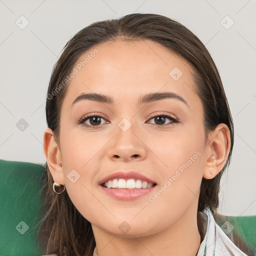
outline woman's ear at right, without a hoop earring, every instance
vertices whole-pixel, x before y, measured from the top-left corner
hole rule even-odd
[[[230,150],[230,132],[226,124],[220,123],[208,135],[203,177],[211,179],[223,168]]]

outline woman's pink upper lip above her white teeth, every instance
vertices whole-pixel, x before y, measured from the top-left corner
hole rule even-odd
[[[104,178],[102,178],[99,181],[99,184],[102,184],[102,183],[104,183],[108,180],[112,180],[114,178],[124,178],[124,179],[134,178],[134,179],[141,179],[143,181],[146,181],[147,183],[156,183],[154,180],[146,177],[145,175],[141,174],[140,172],[137,172],[134,170],[129,170],[129,171],[117,170],[117,171],[114,171],[111,174],[105,176]]]

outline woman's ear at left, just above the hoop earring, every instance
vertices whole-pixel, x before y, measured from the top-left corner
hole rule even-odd
[[[47,128],[44,131],[43,150],[54,182],[64,184],[62,157],[60,149],[53,138],[53,132],[50,128]]]

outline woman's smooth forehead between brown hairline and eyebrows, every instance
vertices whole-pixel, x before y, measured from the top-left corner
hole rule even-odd
[[[151,40],[104,42],[83,53],[74,69],[64,99],[69,104],[88,92],[130,102],[158,91],[196,97],[189,63]]]

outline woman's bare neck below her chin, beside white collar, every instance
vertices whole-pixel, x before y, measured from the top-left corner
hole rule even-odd
[[[98,256],[195,256],[200,245],[197,211],[188,209],[161,232],[133,238],[118,237],[92,226]]]

